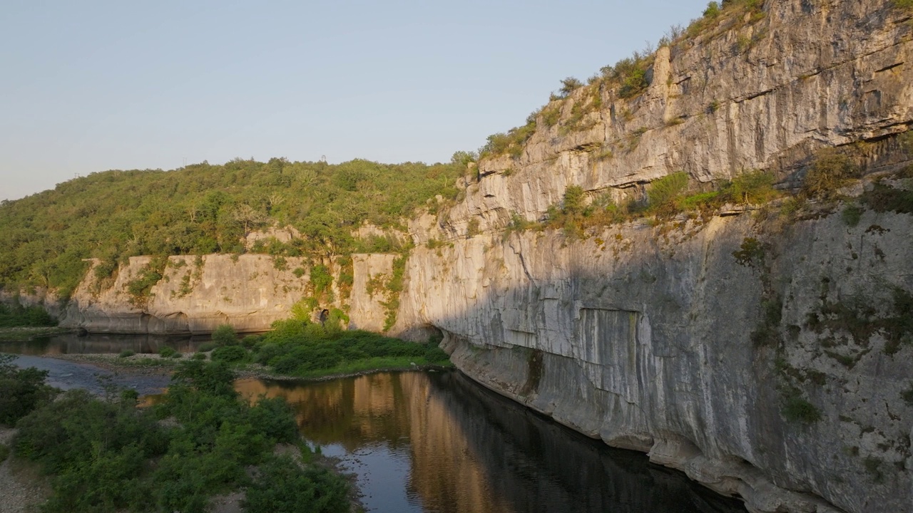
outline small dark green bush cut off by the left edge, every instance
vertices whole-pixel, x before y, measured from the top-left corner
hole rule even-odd
[[[19,369],[16,357],[0,353],[0,424],[13,425],[26,414],[54,399],[57,391],[45,384],[47,371]]]

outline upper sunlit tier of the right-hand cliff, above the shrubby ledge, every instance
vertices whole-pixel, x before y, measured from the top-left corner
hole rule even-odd
[[[550,103],[561,119],[550,127],[540,115],[518,158],[479,162],[482,178],[444,228],[458,236],[473,217],[483,230],[512,213],[540,219],[572,184],[620,197],[668,173],[706,183],[752,169],[795,183],[816,149],[887,144],[913,124],[913,25],[892,5],[768,0],[760,21],[660,48],[634,99],[603,89],[602,107],[589,110],[589,91],[577,89]],[[573,123],[576,104],[587,113]]]

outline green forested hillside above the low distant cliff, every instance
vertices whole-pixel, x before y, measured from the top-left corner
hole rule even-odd
[[[269,162],[236,159],[174,171],[106,171],[52,191],[0,204],[0,288],[58,288],[63,298],[98,257],[100,277],[119,261],[257,251],[327,257],[365,247],[352,230],[368,221],[396,225],[416,206],[456,194],[466,162],[426,165],[364,160]],[[246,249],[243,237],[291,225],[301,238]],[[380,241],[373,241],[377,246]]]

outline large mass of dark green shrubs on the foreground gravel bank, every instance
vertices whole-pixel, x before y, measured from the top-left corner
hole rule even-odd
[[[76,390],[28,414],[17,424],[16,453],[52,476],[42,510],[203,513],[211,496],[247,485],[247,468],[270,465],[273,447],[295,443],[299,434],[284,400],[250,405],[233,380],[224,364],[187,361],[152,408],[138,409],[135,393],[102,401]],[[168,417],[180,427],[159,424]],[[325,510],[349,509],[338,493],[341,477],[310,466],[286,476],[316,483],[315,496],[327,497]],[[273,486],[261,481],[257,493],[275,496]]]

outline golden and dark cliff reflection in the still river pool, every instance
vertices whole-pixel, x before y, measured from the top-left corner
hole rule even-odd
[[[236,388],[285,397],[314,443],[350,454],[385,445],[409,455],[402,486],[416,511],[745,511],[738,500],[650,465],[645,455],[573,433],[459,372],[294,385],[244,380]],[[366,503],[393,510],[370,497]]]

